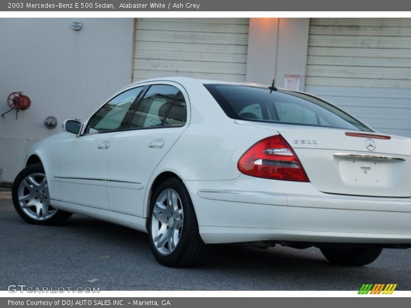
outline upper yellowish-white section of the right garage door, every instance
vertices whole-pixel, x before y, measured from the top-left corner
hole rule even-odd
[[[311,18],[306,85],[411,88],[411,18]]]

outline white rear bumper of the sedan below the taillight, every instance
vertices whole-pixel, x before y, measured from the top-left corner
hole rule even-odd
[[[287,193],[272,193],[264,185],[263,191],[240,190],[236,180],[215,184],[186,182],[206,243],[411,244],[411,198],[329,195],[313,190],[310,183],[293,183],[293,190],[315,194],[291,194],[287,187]]]

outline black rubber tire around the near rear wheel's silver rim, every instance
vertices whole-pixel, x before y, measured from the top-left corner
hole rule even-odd
[[[161,224],[153,217],[154,205],[158,200],[160,194],[164,194],[166,191],[174,190],[179,197],[179,206],[182,207],[182,228],[180,229],[179,240],[175,245],[174,251],[167,255],[159,252],[156,248],[155,239],[153,236],[153,224]],[[167,204],[167,201],[165,201]],[[165,205],[164,211],[169,208],[169,205]],[[147,229],[150,246],[152,248],[154,257],[157,261],[165,266],[170,267],[194,267],[200,265],[207,257],[209,247],[202,241],[199,231],[196,214],[194,211],[193,203],[191,201],[189,192],[185,188],[184,184],[177,178],[169,178],[162,182],[154,191],[150,202],[150,216],[148,217]],[[160,212],[161,214],[161,212]],[[164,214],[165,215],[165,214]],[[166,229],[169,230],[168,220],[166,223]],[[157,234],[158,236],[158,234]],[[165,237],[166,235],[164,235]],[[161,237],[160,237],[161,239]],[[159,241],[159,239],[157,239]],[[165,246],[164,246],[165,247]],[[171,249],[170,249],[171,251]]]

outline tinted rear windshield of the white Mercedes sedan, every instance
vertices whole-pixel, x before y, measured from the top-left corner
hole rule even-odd
[[[238,120],[372,131],[348,113],[310,95],[247,85],[204,85],[228,117]]]

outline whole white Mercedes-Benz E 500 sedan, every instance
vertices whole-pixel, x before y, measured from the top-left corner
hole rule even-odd
[[[127,86],[34,145],[12,189],[29,223],[71,213],[148,232],[194,266],[208,244],[319,247],[364,265],[411,246],[411,139],[313,95],[173,77]]]

